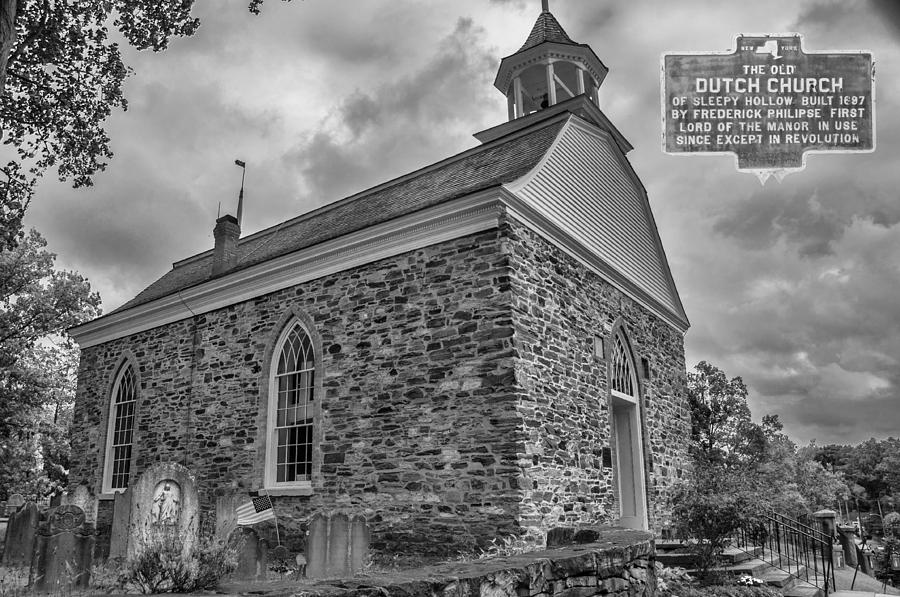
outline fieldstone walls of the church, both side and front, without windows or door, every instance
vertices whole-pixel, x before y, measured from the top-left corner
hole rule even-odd
[[[593,341],[620,320],[653,369],[647,485],[652,524],[665,517],[689,431],[681,334],[514,219],[83,350],[71,482],[100,492],[109,397],[129,363],[132,482],[154,463],[183,464],[200,528],[214,528],[217,498],[262,485],[269,367],[293,317],[321,362],[312,495],[273,497],[294,552],[317,513],[363,516],[373,551],[421,556],[617,518],[603,466],[607,365]],[[103,532],[111,519],[105,500]]]

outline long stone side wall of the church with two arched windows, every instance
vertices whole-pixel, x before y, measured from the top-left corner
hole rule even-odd
[[[99,493],[127,359],[139,387],[132,482],[153,463],[184,464],[207,513],[216,495],[258,488],[268,355],[297,313],[325,373],[314,493],[273,498],[282,536],[299,549],[323,509],[367,516],[377,550],[452,553],[516,534],[525,448],[501,242],[499,230],[471,235],[85,349],[72,483]]]

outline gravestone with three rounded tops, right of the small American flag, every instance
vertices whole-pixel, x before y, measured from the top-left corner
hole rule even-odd
[[[316,514],[309,523],[306,543],[306,576],[347,577],[362,570],[369,551],[365,518],[346,514]]]

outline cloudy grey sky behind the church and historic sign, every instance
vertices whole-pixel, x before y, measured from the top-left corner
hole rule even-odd
[[[244,232],[477,144],[506,120],[492,86],[540,0],[198,0],[198,33],[126,56],[127,112],[96,186],[47,180],[27,218],[110,311],[212,247],[247,162]],[[748,383],[760,418],[805,443],[900,435],[900,9],[894,0],[551,0],[610,69],[601,108],[635,149],[693,324],[690,365]],[[813,155],[761,186],[727,156],[660,149],[663,52],[799,32],[806,51],[869,50],[877,149]]]

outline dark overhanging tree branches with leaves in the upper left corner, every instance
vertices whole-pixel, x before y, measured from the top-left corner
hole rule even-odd
[[[262,0],[249,8],[258,13]],[[138,50],[192,35],[194,0],[0,0],[0,250],[20,238],[35,179],[56,169],[82,187],[112,157],[103,123],[125,109],[129,74],[116,28]],[[4,158],[5,159],[5,158]]]

